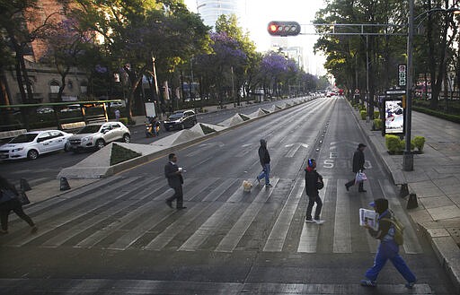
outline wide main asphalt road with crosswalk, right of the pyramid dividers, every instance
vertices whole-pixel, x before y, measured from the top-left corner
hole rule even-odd
[[[273,187],[244,194],[268,140]],[[263,117],[178,151],[183,211],[171,195],[165,159],[27,209],[40,231],[13,218],[0,237],[2,293],[79,294],[454,294],[428,243],[404,212],[395,187],[366,151],[366,194],[344,183],[349,158],[365,142],[342,99],[319,99]],[[323,174],[323,225],[305,224],[305,159]],[[403,257],[413,291],[389,264],[377,290],[358,285],[376,241],[358,226],[358,208],[383,197],[406,225]]]

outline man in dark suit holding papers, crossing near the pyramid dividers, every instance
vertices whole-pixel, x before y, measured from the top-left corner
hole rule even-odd
[[[177,156],[175,153],[170,153],[168,159],[168,163],[164,165],[164,175],[168,179],[168,185],[173,188],[174,195],[166,199],[166,204],[173,208],[173,201],[176,200],[176,209],[185,209],[187,207],[183,206],[182,194],[182,172],[184,170],[177,166]]]

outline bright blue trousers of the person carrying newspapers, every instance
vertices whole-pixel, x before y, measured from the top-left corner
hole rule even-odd
[[[380,242],[378,245],[374,265],[366,272],[367,279],[376,281],[378,273],[384,268],[388,259],[393,263],[394,267],[401,273],[407,282],[415,282],[417,278],[409,269],[409,266],[403,260],[403,257],[398,253],[399,247],[393,240],[388,242]]]

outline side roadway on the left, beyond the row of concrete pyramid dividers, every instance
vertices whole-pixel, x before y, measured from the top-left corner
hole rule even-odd
[[[262,102],[259,104],[252,104],[243,108],[229,108],[218,112],[208,114],[199,114],[199,122],[208,124],[217,124],[229,117],[234,116],[237,112],[243,114],[251,114],[258,108],[271,108],[274,104],[285,103],[290,100],[276,101],[276,102]],[[129,127],[131,131],[132,143],[153,143],[158,138],[173,134],[174,132],[161,132],[160,136],[155,138],[146,138],[145,126],[132,126]],[[61,169],[70,167],[84,160],[91,152],[81,152],[75,154],[74,152],[52,152],[39,157],[35,161],[19,160],[19,161],[0,161],[0,171],[8,174],[8,179],[13,183],[19,184],[21,178],[27,179],[29,184],[33,187],[40,183],[49,181],[50,179],[57,178],[57,174]]]

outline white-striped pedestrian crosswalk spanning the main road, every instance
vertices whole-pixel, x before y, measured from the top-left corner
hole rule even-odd
[[[254,247],[261,252],[318,253],[321,248],[334,254],[375,253],[376,240],[357,223],[358,208],[367,206],[376,194],[388,198],[406,224],[402,251],[422,253],[388,180],[374,179],[376,185],[369,186],[367,194],[347,192],[346,181],[324,179],[320,197],[326,223],[319,225],[304,221],[307,199],[301,178],[272,178],[273,187],[256,185],[251,193],[243,192],[243,179],[188,178],[184,186],[188,208],[176,211],[164,204],[173,194],[164,179],[116,176],[26,208],[40,226],[35,235],[12,215],[10,234],[1,237],[0,246],[222,253]],[[322,247],[327,241],[332,246]]]

